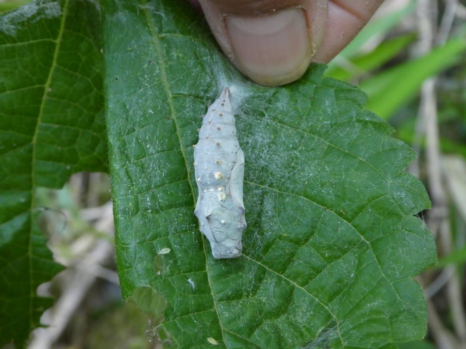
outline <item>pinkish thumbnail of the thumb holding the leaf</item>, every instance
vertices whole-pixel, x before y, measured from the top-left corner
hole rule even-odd
[[[228,16],[234,63],[254,82],[277,86],[298,79],[312,59],[304,11],[266,16]]]

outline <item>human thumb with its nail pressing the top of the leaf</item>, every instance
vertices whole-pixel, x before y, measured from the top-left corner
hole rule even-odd
[[[199,0],[226,56],[264,86],[299,79],[325,34],[327,0]]]

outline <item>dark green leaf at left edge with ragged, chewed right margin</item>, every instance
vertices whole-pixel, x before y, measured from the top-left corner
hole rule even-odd
[[[24,347],[62,267],[36,227],[38,186],[106,170],[100,13],[89,1],[33,2],[0,17],[0,346]]]

